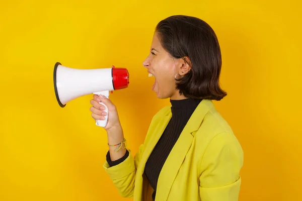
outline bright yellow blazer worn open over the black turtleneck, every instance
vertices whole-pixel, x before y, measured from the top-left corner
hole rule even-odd
[[[144,175],[145,163],[172,117],[171,106],[152,119],[144,143],[134,158],[103,167],[118,192],[134,201],[152,200],[153,189]],[[204,99],[195,109],[159,175],[156,201],[237,201],[243,150],[229,124]]]

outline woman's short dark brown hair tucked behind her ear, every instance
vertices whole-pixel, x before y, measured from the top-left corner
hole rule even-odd
[[[174,58],[189,57],[191,70],[176,84],[186,97],[220,100],[226,92],[219,86],[221,52],[213,29],[190,16],[171,16],[156,27],[163,48]]]

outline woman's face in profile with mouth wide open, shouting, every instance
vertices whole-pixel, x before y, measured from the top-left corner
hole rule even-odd
[[[175,75],[183,59],[173,58],[161,45],[158,33],[153,36],[150,53],[143,61],[148,73],[155,77],[152,90],[158,98],[175,99],[179,93],[175,89]],[[153,78],[152,76],[152,78]],[[178,78],[178,77],[177,77]]]

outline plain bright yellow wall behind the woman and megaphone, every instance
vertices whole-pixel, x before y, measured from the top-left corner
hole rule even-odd
[[[228,96],[214,104],[244,149],[240,200],[302,200],[300,10],[298,0],[1,0],[0,200],[129,200],[103,170],[107,138],[92,95],[60,108],[53,66],[128,68],[129,87],[110,98],[136,153],[169,104],[142,61],[156,24],[176,14],[205,20],[220,42]]]

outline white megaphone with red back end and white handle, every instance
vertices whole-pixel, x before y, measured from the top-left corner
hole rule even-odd
[[[126,68],[74,69],[56,62],[53,70],[54,92],[57,102],[64,108],[72,99],[97,94],[109,97],[109,91],[127,88],[129,73]],[[97,120],[96,125],[105,127],[108,121],[108,108],[105,107],[105,120]]]

